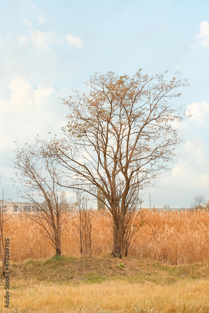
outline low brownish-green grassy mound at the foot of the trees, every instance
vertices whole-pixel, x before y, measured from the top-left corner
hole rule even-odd
[[[27,260],[10,264],[11,280],[33,280],[60,284],[125,279],[129,282],[146,281],[155,284],[173,284],[183,279],[209,277],[209,264],[201,262],[184,266],[170,266],[109,255],[95,258],[53,256],[48,259]],[[1,270],[1,269],[0,269]]]

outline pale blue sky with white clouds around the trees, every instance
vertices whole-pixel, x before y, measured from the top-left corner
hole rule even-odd
[[[190,207],[209,199],[209,2],[206,0],[0,2],[0,192],[17,198],[15,142],[61,134],[61,98],[86,91],[95,72],[133,75],[176,71],[190,86],[180,103],[193,114],[170,172],[144,190],[143,206]]]

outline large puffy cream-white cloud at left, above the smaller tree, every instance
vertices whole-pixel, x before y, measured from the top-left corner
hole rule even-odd
[[[10,99],[0,102],[1,153],[12,151],[13,141],[29,138],[33,141],[37,133],[49,129],[59,132],[62,124],[59,115],[48,109],[55,102],[53,86],[34,86],[25,77],[16,77],[9,84],[9,90]]]

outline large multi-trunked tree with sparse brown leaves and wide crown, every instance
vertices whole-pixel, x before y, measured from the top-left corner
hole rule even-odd
[[[62,186],[103,203],[98,188],[104,194],[113,218],[112,254],[121,258],[126,219],[140,192],[175,160],[175,146],[182,141],[176,123],[186,118],[177,90],[187,82],[178,73],[166,81],[164,74],[149,77],[139,70],[132,78],[96,73],[86,85],[89,94],[75,91],[63,99],[69,107],[67,137],[45,142],[45,149],[70,179]]]

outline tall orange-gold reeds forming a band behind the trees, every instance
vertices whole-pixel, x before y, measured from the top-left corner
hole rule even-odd
[[[61,237],[61,251],[65,256],[80,256],[78,234],[68,215],[67,230]],[[92,227],[92,256],[111,253],[112,228],[108,213],[95,214]],[[97,216],[96,216],[97,215]],[[167,264],[189,264],[209,260],[209,212],[144,211],[145,223],[134,235],[129,257],[149,259]],[[10,260],[47,258],[55,249],[47,243],[22,213],[11,214],[5,225],[5,236],[10,239]]]

